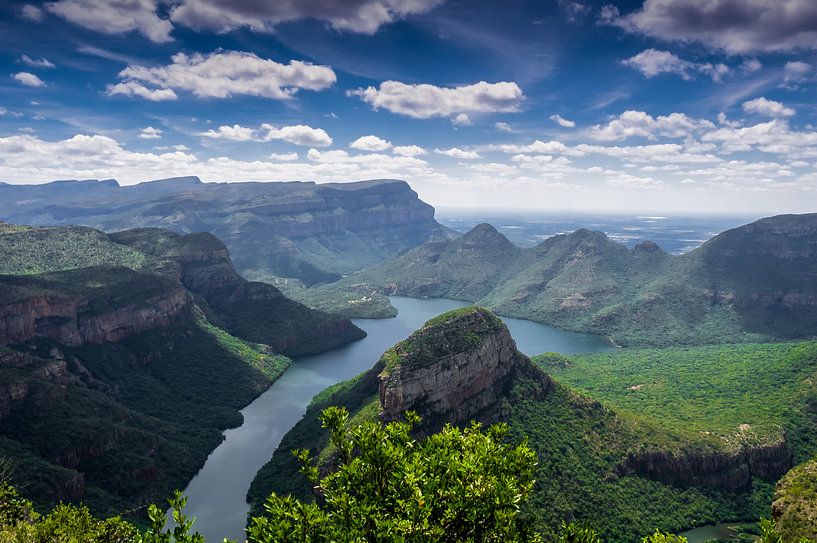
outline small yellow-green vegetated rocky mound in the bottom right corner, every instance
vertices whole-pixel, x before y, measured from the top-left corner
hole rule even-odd
[[[777,484],[772,514],[784,540],[817,540],[817,460],[792,469]]]

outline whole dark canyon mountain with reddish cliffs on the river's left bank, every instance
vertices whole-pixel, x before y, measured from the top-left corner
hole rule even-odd
[[[163,499],[289,365],[275,353],[363,335],[245,281],[210,234],[0,224],[0,457],[39,506]]]

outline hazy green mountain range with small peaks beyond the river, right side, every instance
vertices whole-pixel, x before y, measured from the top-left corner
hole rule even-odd
[[[791,339],[817,333],[817,214],[784,215],[670,255],[585,229],[527,249],[482,224],[333,288],[476,302],[611,336],[621,345]]]

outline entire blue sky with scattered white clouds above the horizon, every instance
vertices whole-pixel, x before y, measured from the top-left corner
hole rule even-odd
[[[0,4],[0,181],[817,211],[813,0]]]

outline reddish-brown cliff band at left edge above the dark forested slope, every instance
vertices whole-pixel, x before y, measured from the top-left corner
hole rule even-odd
[[[0,345],[35,337],[71,346],[119,341],[168,326],[190,303],[181,287],[103,313],[90,311],[86,297],[33,296],[0,305]]]

